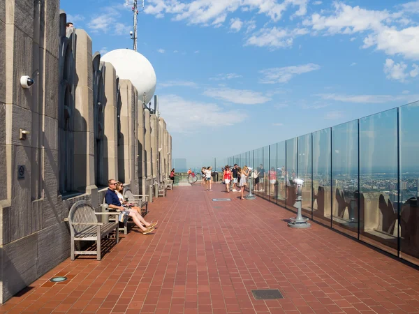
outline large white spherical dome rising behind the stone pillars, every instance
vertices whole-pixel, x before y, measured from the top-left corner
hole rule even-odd
[[[130,80],[138,91],[138,99],[142,101],[145,93],[145,103],[149,103],[156,91],[156,73],[146,57],[134,50],[117,49],[105,54],[101,61],[112,63],[119,79]]]

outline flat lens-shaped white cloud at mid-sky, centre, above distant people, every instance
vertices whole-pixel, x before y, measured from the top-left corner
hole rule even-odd
[[[228,101],[242,105],[257,105],[267,103],[272,100],[264,96],[259,91],[249,91],[246,89],[230,89],[228,87],[211,88],[204,91],[204,95],[219,100]]]

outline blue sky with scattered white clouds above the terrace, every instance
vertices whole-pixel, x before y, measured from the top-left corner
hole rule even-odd
[[[94,51],[131,48],[124,1],[61,0]],[[198,165],[419,100],[419,1],[146,0],[172,157]]]

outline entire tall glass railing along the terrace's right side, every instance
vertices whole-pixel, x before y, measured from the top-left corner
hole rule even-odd
[[[254,193],[419,264],[419,102],[226,158]]]

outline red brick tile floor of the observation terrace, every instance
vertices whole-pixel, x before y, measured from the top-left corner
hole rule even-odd
[[[290,211],[201,186],[149,205],[154,234],[133,228],[100,262],[66,260],[0,313],[419,313],[419,271]],[[212,202],[231,197],[232,202]],[[52,276],[65,283],[50,283]],[[256,300],[253,289],[284,299]]]

